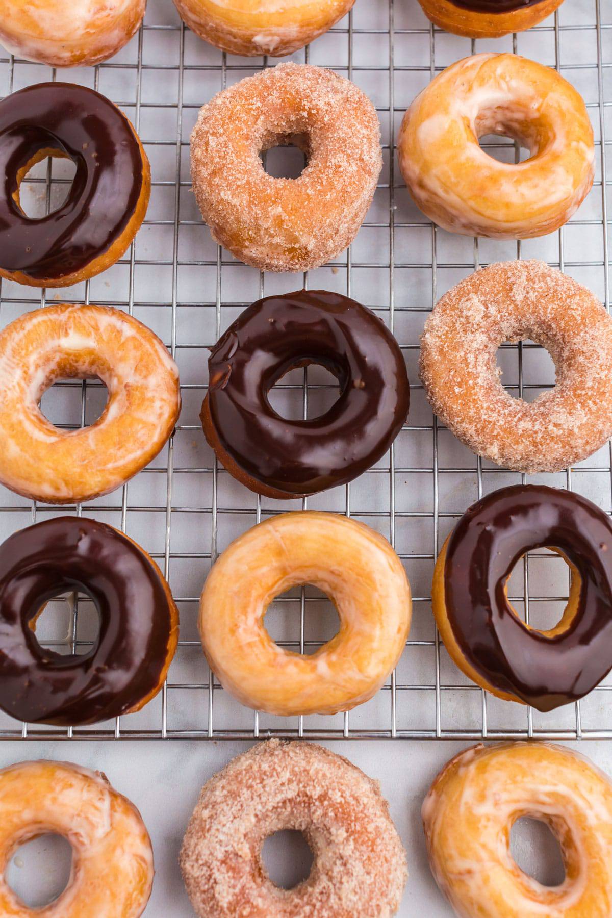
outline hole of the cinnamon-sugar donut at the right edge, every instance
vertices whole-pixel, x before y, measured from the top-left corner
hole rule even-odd
[[[496,364],[502,386],[509,396],[534,402],[556,383],[551,354],[529,338],[504,341],[497,349]]]

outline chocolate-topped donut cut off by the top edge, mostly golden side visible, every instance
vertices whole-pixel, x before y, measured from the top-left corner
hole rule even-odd
[[[562,5],[563,0],[418,0],[434,25],[468,39],[500,39],[524,32]]]

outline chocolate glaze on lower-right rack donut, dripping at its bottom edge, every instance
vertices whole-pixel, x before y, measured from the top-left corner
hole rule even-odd
[[[558,548],[581,577],[569,628],[529,631],[504,587],[519,558]],[[457,524],[444,567],[446,608],[462,654],[486,681],[539,711],[582,698],[612,668],[612,523],[590,500],[554,487],[504,487]]]

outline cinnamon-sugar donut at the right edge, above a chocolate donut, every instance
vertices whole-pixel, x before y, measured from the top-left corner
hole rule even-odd
[[[555,386],[534,402],[500,383],[497,348],[532,339]],[[612,319],[572,278],[541,262],[491,264],[440,299],[419,371],[432,409],[474,453],[523,472],[559,472],[612,434]]]

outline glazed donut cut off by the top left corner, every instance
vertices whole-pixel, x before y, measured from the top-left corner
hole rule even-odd
[[[106,61],[138,31],[147,0],[0,0],[0,42],[50,67]]]

